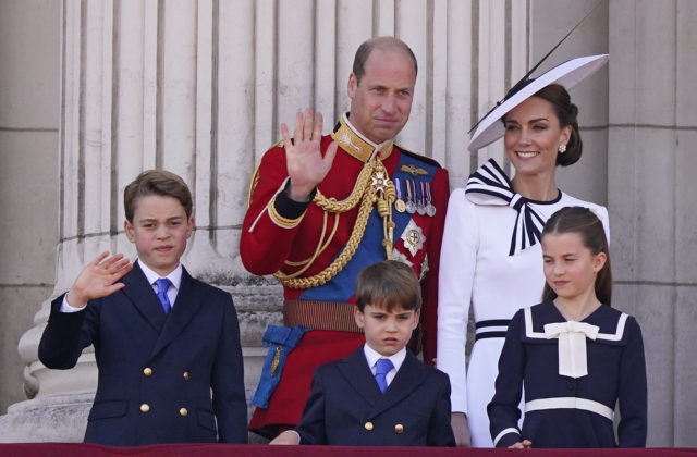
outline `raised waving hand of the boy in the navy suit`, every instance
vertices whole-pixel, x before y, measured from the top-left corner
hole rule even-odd
[[[84,308],[87,301],[111,295],[124,286],[117,281],[133,269],[133,263],[123,254],[107,257],[108,251],[101,252],[83,269],[65,297],[70,306]]]

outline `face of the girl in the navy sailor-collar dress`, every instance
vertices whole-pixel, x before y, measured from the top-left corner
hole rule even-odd
[[[545,279],[557,296],[574,299],[595,295],[596,275],[606,264],[604,252],[592,254],[580,234],[549,233],[542,236]]]

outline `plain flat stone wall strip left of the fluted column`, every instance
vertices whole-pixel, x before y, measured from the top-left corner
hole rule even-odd
[[[53,289],[59,11],[0,2],[0,411],[25,398],[17,341]]]

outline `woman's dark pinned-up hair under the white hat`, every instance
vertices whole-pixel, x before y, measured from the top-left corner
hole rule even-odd
[[[505,95],[505,99],[516,94],[533,81],[535,79],[528,79],[524,84],[513,87]],[[561,128],[564,128],[567,125],[571,126],[571,136],[568,137],[568,143],[566,144],[566,151],[563,153],[557,152],[557,164],[560,166],[568,166],[578,162],[578,159],[580,159],[580,153],[584,149],[584,144],[580,139],[580,133],[578,132],[578,107],[571,102],[571,96],[568,95],[568,91],[562,85],[550,84],[549,86],[545,86],[540,90],[535,92],[533,97],[541,98],[542,100],[549,101],[552,104],[554,114],[557,114],[559,126]],[[503,115],[501,121],[505,122],[505,114]]]

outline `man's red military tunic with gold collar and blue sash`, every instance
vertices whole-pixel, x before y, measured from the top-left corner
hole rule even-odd
[[[430,189],[430,201],[436,208],[432,217],[400,213],[392,209],[398,224],[392,258],[411,264],[416,275],[421,279],[424,307],[420,323],[424,332],[424,360],[432,365],[436,357],[438,265],[450,194],[448,172],[433,160],[393,146],[391,141],[383,145],[370,144],[351,129],[345,118],[337,125],[334,136],[339,140],[340,150],[329,174],[318,185],[323,196],[334,197],[338,201],[348,197],[358,174],[366,161],[372,160],[375,156],[372,152],[376,149],[380,150],[388,176],[400,181],[403,200],[406,199],[407,181],[412,185],[416,184],[413,188],[418,190],[423,200],[427,199],[426,190]],[[331,140],[330,136],[322,138],[322,153]],[[284,264],[285,261],[296,262],[310,258],[317,249],[322,231],[325,230],[327,238],[337,222],[337,214],[328,213],[325,223],[325,210],[315,202],[309,203],[302,219],[297,218],[297,214],[290,214],[282,203],[274,205],[277,198],[279,201],[282,200],[278,195],[282,192],[286,178],[285,150],[282,146],[276,146],[265,153],[254,176],[249,208],[244,219],[240,242],[242,261],[254,274],[267,275],[279,270],[284,273],[296,271],[296,267],[289,267]],[[321,272],[342,251],[351,237],[359,206],[360,203],[339,215],[333,238],[301,277]],[[374,208],[372,213],[375,212]],[[379,217],[371,214],[371,218]],[[381,218],[378,220],[381,221]],[[411,236],[406,236],[407,234]],[[382,223],[370,224],[369,222],[358,251],[337,276],[325,285],[308,289],[284,286],[284,298],[353,304],[357,273],[364,267],[386,259],[386,250],[381,245],[382,238]],[[260,431],[274,424],[289,428],[296,424],[309,394],[315,368],[347,356],[364,342],[365,338],[360,333],[323,330],[307,332],[296,348],[288,355],[281,381],[271,396],[269,407],[257,408],[249,428]],[[266,435],[274,433],[273,429],[266,429],[266,433],[262,432]]]

